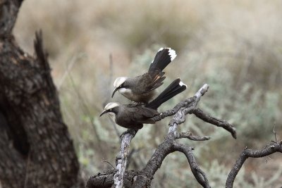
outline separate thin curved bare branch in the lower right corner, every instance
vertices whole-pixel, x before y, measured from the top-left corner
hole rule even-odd
[[[226,180],[226,188],[233,187],[233,183],[235,180],[236,175],[238,174],[239,170],[242,168],[243,164],[247,160],[247,158],[260,158],[264,156],[269,156],[272,153],[280,152],[282,153],[282,141],[270,144],[266,146],[264,149],[261,150],[252,150],[252,149],[244,149],[244,151],[240,154],[239,158],[233,165],[231,172],[229,173],[227,180]]]

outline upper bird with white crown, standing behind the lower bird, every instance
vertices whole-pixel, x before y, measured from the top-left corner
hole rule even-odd
[[[116,78],[111,97],[118,91],[131,101],[147,104],[154,97],[154,89],[160,87],[166,78],[162,70],[174,58],[176,58],[176,51],[173,49],[159,49],[147,73],[137,77]]]

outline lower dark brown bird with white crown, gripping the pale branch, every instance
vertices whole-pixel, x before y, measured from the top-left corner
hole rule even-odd
[[[114,113],[116,115],[116,124],[121,125],[121,127],[139,130],[143,127],[143,123],[154,124],[155,121],[152,118],[159,114],[157,108],[168,99],[183,92],[186,87],[187,86],[181,82],[180,78],[178,78],[171,82],[171,84],[169,84],[168,87],[166,87],[166,89],[164,89],[164,91],[149,104],[140,106],[133,104],[109,103],[105,106],[100,117],[104,113]]]

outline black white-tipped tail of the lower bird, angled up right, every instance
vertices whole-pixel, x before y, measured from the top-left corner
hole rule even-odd
[[[149,104],[147,104],[146,107],[157,110],[157,108],[159,108],[161,104],[163,104],[168,99],[173,98],[173,96],[176,96],[180,92],[183,92],[186,89],[186,87],[187,86],[183,82],[181,82],[180,78],[178,78],[174,80],[171,84],[169,84],[168,87],[164,89],[164,92],[161,92],[161,94],[159,94],[159,96],[157,96],[156,99],[149,102]]]

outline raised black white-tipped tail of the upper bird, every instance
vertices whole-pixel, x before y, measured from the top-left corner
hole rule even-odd
[[[156,70],[164,70],[166,66],[176,58],[176,51],[171,48],[161,48],[157,52],[154,60],[152,61],[148,72],[156,71]]]

